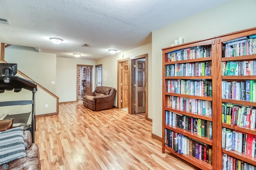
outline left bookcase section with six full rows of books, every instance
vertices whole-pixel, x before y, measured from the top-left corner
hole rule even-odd
[[[162,50],[162,152],[168,150],[201,169],[215,169],[216,45],[206,39]]]

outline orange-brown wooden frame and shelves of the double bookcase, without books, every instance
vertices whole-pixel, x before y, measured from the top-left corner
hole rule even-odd
[[[249,36],[249,35],[255,35],[255,34],[256,34],[256,27],[251,28],[251,29],[242,30],[242,31],[236,31],[234,33],[228,33],[225,35],[219,35],[219,36],[213,37],[211,39],[193,41],[191,43],[186,43],[184,45],[177,45],[174,47],[167,47],[167,48],[162,49],[162,57],[163,57],[163,59],[162,59],[162,80],[163,80],[163,86],[162,86],[162,117],[163,117],[163,119],[162,119],[162,129],[163,129],[162,130],[162,136],[163,136],[162,152],[163,153],[164,153],[164,150],[166,149],[201,169],[221,170],[222,163],[223,163],[223,160],[222,160],[223,154],[228,154],[234,158],[243,160],[245,162],[248,162],[249,164],[256,166],[256,158],[254,158],[252,156],[248,156],[246,154],[238,153],[235,151],[226,151],[225,149],[222,149],[222,146],[221,146],[222,127],[232,129],[235,131],[239,131],[242,133],[251,134],[252,136],[256,137],[256,129],[239,127],[236,125],[231,126],[231,125],[228,125],[227,123],[222,123],[222,103],[237,104],[237,105],[243,105],[243,106],[249,106],[252,108],[256,108],[256,102],[248,102],[246,100],[222,99],[222,81],[244,82],[245,80],[256,80],[256,75],[251,74],[251,75],[239,75],[239,76],[237,76],[237,75],[236,76],[222,76],[222,73],[220,71],[220,70],[222,70],[222,62],[256,61],[256,54],[252,54],[252,53],[248,53],[248,54],[252,54],[252,55],[243,55],[243,56],[238,56],[238,57],[222,57],[223,56],[222,53],[224,52],[223,47],[226,46],[227,41],[231,42],[231,41],[234,41],[234,39]],[[198,46],[201,46],[201,47],[202,46],[204,46],[204,47],[210,46],[211,50],[212,50],[212,54],[210,55],[210,57],[170,62],[170,59],[173,59],[173,58],[170,58],[170,53],[177,51],[177,50],[184,50],[184,49],[188,49],[188,48],[192,49],[193,47],[198,47]],[[236,48],[237,47],[238,46],[236,46]],[[249,49],[249,48],[246,48],[246,49]],[[177,53],[175,55],[178,55],[178,57],[179,57],[179,53]],[[174,59],[176,59],[176,58],[174,58]],[[208,61],[211,61],[211,63],[212,63],[211,76],[166,76],[167,65],[182,64],[182,63],[196,63],[196,62],[201,63],[201,62],[208,62]],[[253,62],[251,62],[251,63],[253,63]],[[242,64],[240,64],[240,65],[242,65]],[[168,67],[168,69],[170,69],[170,67]],[[185,69],[187,70],[187,68],[185,68]],[[254,69],[256,69],[256,67],[254,67]],[[182,70],[182,71],[184,72],[184,70]],[[168,93],[167,81],[168,80],[177,80],[177,79],[180,79],[180,80],[211,80],[211,82],[212,82],[212,97],[191,96],[191,95],[186,95],[186,94]],[[168,107],[167,96],[176,96],[176,97],[182,97],[182,98],[192,98],[192,99],[197,99],[197,100],[211,101],[212,102],[212,116],[202,115],[202,114],[198,114],[198,113],[193,113],[193,112],[188,112],[188,111]],[[212,121],[212,129],[214,129],[212,131],[212,140],[208,141],[208,139],[204,139],[203,137],[200,137],[197,134],[194,134],[194,133],[188,132],[184,129],[180,129],[178,127],[166,124],[165,123],[165,111],[172,111],[174,113],[187,115],[187,116],[195,117],[198,119],[204,119],[207,121]],[[212,166],[202,160],[197,160],[196,158],[194,158],[192,156],[174,153],[173,149],[165,146],[164,145],[165,144],[164,143],[165,129],[170,129],[172,131],[183,134],[192,139],[196,139],[203,143],[207,143],[208,145],[211,143],[212,153],[213,153],[212,154]]]

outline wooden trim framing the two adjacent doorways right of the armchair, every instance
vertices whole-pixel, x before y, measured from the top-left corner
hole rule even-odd
[[[148,54],[143,54],[143,55],[138,55],[138,56],[134,56],[134,57],[130,57],[130,58],[126,58],[126,59],[122,59],[122,60],[118,60],[117,61],[117,108],[121,109],[121,63],[123,62],[127,62],[128,61],[128,70],[129,70],[129,74],[128,74],[128,113],[132,114],[134,113],[134,107],[132,107],[132,103],[134,103],[134,92],[132,93],[132,89],[134,91],[134,88],[132,88],[132,81],[131,81],[131,77],[132,77],[132,62],[134,62],[134,60],[137,59],[143,59],[145,58],[145,73],[146,73],[146,120],[147,121],[151,121],[152,119],[148,118]],[[133,109],[132,109],[133,108]],[[133,110],[133,112],[132,112]]]

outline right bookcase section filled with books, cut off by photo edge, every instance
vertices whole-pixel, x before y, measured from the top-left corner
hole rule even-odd
[[[256,29],[217,37],[223,170],[256,168]],[[221,47],[220,47],[221,46]],[[217,76],[217,77],[218,77]]]

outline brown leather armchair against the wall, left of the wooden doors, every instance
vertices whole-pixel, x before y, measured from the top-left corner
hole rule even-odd
[[[85,92],[83,104],[92,110],[112,109],[116,97],[116,89],[106,86],[97,86],[94,92]]]

